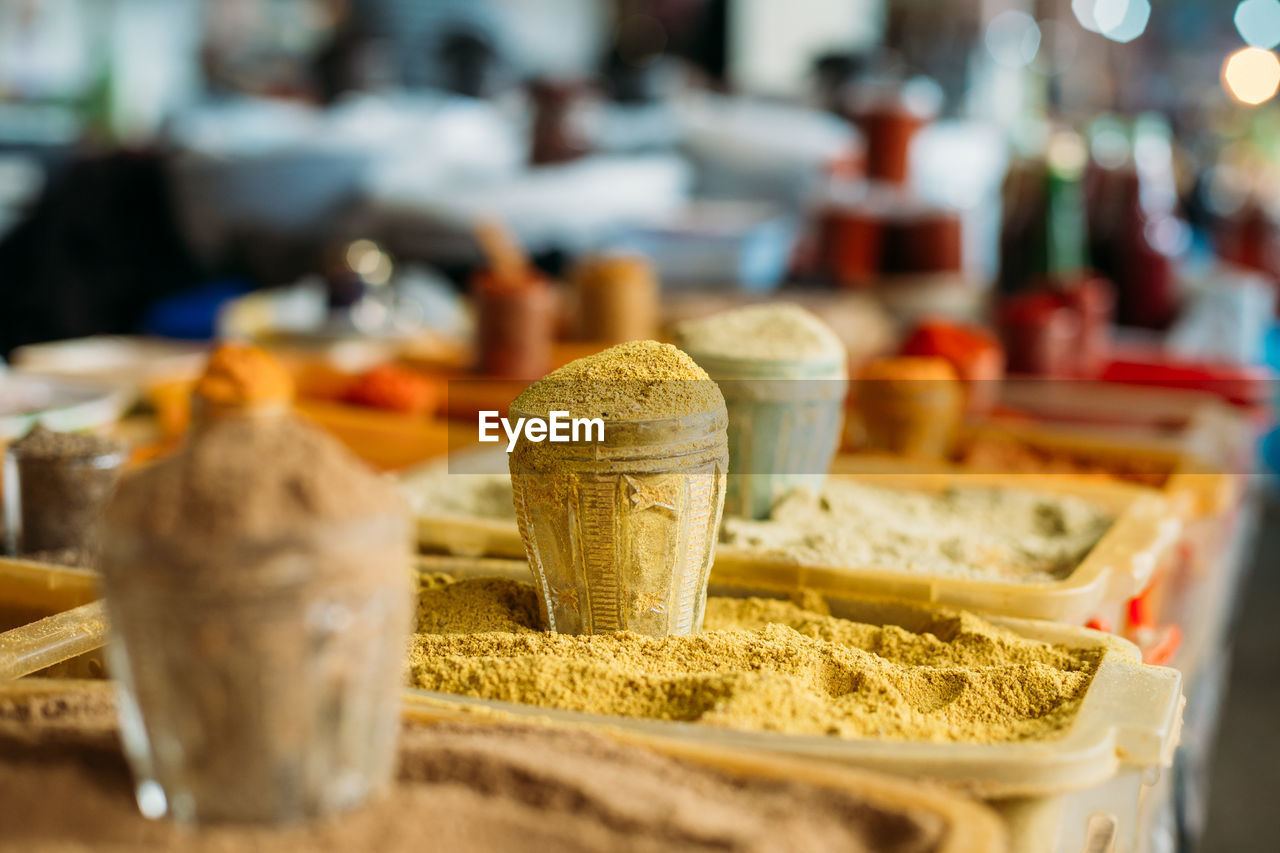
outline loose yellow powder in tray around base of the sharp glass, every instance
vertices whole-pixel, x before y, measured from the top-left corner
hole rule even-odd
[[[415,686],[568,711],[742,730],[998,743],[1074,717],[1102,652],[1023,639],[940,611],[920,633],[799,605],[712,598],[700,634],[654,639],[539,628],[534,588],[424,581]]]

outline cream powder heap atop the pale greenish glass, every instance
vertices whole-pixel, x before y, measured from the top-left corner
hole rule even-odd
[[[845,359],[836,333],[797,305],[750,305],[686,320],[677,334],[681,345],[699,356],[751,361]]]

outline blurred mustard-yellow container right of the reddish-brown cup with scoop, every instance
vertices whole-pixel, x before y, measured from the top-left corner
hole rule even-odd
[[[655,337],[658,279],[644,257],[590,257],[575,270],[573,284],[584,341],[625,343]]]

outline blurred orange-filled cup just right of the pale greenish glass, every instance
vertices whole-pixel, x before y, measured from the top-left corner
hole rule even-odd
[[[964,388],[943,359],[877,359],[858,380],[868,450],[945,459],[960,428]]]

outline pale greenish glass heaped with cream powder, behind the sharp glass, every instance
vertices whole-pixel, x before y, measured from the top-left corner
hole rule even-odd
[[[724,394],[724,514],[760,519],[792,489],[820,492],[849,392],[835,332],[799,306],[758,305],[684,323],[677,338]]]

